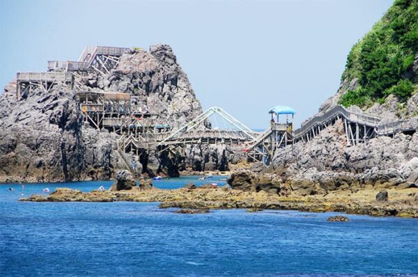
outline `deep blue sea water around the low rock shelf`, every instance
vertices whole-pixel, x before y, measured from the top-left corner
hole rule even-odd
[[[155,181],[183,187],[196,177]],[[207,182],[198,182],[199,184]],[[215,177],[210,182],[224,181]],[[176,214],[158,203],[27,203],[0,184],[0,276],[414,276],[418,220],[295,211]],[[14,187],[15,191],[8,191]]]

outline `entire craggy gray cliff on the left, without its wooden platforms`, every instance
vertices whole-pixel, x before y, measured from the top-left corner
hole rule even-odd
[[[189,79],[171,47],[132,50],[105,76],[88,74],[83,90],[118,91],[160,113],[172,127],[201,113]],[[116,148],[118,135],[83,124],[75,93],[54,86],[17,100],[15,82],[0,95],[0,181],[63,181],[109,178],[125,164]],[[150,171],[167,170],[171,161],[152,157]]]

